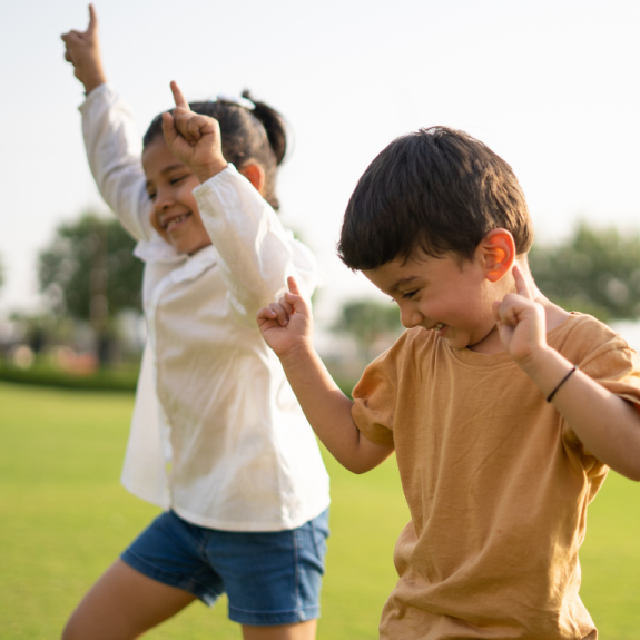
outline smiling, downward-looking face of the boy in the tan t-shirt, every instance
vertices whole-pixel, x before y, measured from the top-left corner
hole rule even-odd
[[[405,327],[435,331],[454,348],[495,353],[502,346],[492,303],[501,299],[496,288],[504,284],[490,282],[480,256],[461,262],[454,254],[434,258],[416,252],[406,262],[395,258],[363,273],[397,303]]]

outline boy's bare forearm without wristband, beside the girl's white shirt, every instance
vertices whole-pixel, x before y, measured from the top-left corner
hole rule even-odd
[[[343,466],[364,473],[391,455],[393,450],[361,434],[351,414],[353,402],[335,384],[313,347],[301,346],[280,362],[309,424]]]

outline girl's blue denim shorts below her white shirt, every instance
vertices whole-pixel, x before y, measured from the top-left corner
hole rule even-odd
[[[163,513],[122,553],[147,578],[209,607],[226,592],[229,619],[267,627],[319,618],[328,509],[298,529],[206,529]]]

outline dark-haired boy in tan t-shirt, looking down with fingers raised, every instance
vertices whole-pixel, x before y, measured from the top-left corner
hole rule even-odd
[[[532,239],[504,160],[461,131],[420,130],[378,155],[345,214],[342,259],[408,329],[354,402],[313,349],[293,279],[258,314],[332,454],[363,473],[396,452],[411,522],[381,638],[597,638],[578,550],[608,466],[640,480],[640,362],[535,288]]]

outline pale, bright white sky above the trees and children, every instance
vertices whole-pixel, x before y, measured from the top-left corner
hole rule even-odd
[[[514,169],[538,242],[580,218],[640,229],[637,0],[96,1],[105,70],[144,131],[187,99],[249,88],[285,115],[294,148],[282,217],[323,270],[316,313],[376,296],[335,255],[348,197],[391,140],[446,125]],[[0,316],[38,308],[38,253],[81,211],[107,214],[88,170],[82,88],[59,35],[87,3],[22,0],[0,21],[6,284]],[[382,298],[384,299],[384,298]]]

